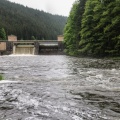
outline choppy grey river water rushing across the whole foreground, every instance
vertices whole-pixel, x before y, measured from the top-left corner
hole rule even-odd
[[[0,56],[0,120],[120,120],[120,62]]]

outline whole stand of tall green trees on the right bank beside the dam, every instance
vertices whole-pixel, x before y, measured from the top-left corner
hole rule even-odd
[[[64,28],[65,52],[120,56],[120,0],[77,0]]]

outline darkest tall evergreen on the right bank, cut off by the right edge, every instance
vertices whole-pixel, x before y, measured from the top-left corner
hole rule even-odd
[[[120,1],[104,0],[106,11],[103,17],[106,18],[104,27],[105,54],[118,56],[120,55]]]

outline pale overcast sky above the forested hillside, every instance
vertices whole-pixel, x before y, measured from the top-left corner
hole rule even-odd
[[[68,16],[75,0],[9,0],[52,14]]]

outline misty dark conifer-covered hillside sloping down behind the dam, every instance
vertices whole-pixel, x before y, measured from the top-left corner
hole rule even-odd
[[[66,20],[64,16],[0,0],[0,29],[4,29],[6,35],[16,35],[19,40],[57,39],[57,35],[63,34]]]

